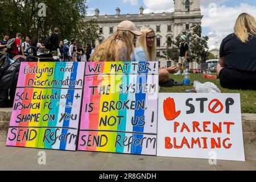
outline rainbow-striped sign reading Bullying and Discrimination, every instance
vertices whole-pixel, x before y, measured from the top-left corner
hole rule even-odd
[[[76,150],[85,63],[22,63],[7,146]]]

